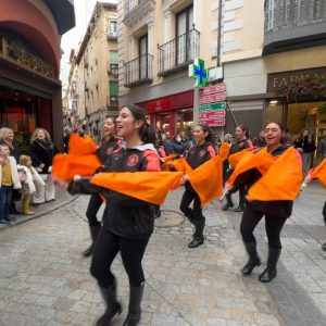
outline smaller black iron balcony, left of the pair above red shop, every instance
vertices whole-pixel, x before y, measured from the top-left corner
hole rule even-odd
[[[124,86],[131,88],[141,84],[153,82],[153,55],[142,54],[125,63]]]

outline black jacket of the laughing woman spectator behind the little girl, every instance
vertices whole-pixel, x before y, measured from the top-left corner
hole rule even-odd
[[[49,167],[52,166],[53,156],[58,153],[53,142],[36,139],[29,146],[29,153],[33,166],[38,167],[40,164],[45,164],[42,171],[39,173],[49,174]]]

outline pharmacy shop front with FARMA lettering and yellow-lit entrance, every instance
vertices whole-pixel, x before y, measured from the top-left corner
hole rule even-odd
[[[326,136],[326,67],[268,74],[265,121],[285,125],[292,138],[309,129],[316,143]]]

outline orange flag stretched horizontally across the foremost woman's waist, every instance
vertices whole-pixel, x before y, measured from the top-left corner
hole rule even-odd
[[[90,183],[156,205],[168,190],[180,185],[181,172],[111,172],[96,175]]]

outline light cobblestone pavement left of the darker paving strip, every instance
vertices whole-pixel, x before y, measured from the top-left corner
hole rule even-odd
[[[163,210],[176,210],[183,189],[170,195]],[[84,221],[87,197],[0,233],[0,325],[93,325],[103,311],[90,260]],[[246,260],[239,236],[216,204],[204,211],[206,241],[188,249],[192,228],[185,221],[158,227],[143,266],[147,277],[140,325],[285,325],[266,286],[243,279]],[[83,218],[80,218],[83,217]],[[118,297],[127,306],[126,274],[116,259]]]

